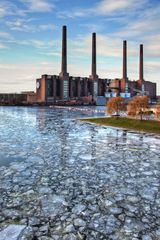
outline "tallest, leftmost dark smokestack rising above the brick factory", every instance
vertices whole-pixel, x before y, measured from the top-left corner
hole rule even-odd
[[[67,73],[67,27],[62,27],[62,73]]]

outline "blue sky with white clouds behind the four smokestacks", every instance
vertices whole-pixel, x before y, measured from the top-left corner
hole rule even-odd
[[[127,40],[128,78],[139,75],[160,95],[160,0],[0,0],[0,92],[35,91],[42,74],[61,69],[61,31],[68,30],[68,72],[91,73],[91,37],[97,33],[97,74],[122,77]]]

